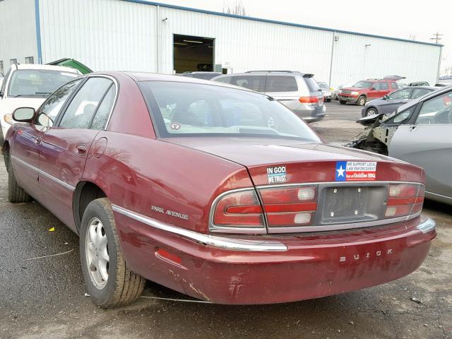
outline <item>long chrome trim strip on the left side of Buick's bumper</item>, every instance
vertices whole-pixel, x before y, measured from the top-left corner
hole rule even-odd
[[[143,224],[157,228],[158,230],[178,234],[182,237],[200,242],[201,244],[218,247],[220,249],[230,249],[232,251],[287,251],[287,246],[280,242],[270,240],[244,240],[228,237],[217,237],[168,225],[165,222],[146,217],[145,215],[138,214],[117,205],[112,205],[112,208],[117,213],[126,215],[126,217],[137,220],[138,222],[143,222]]]

